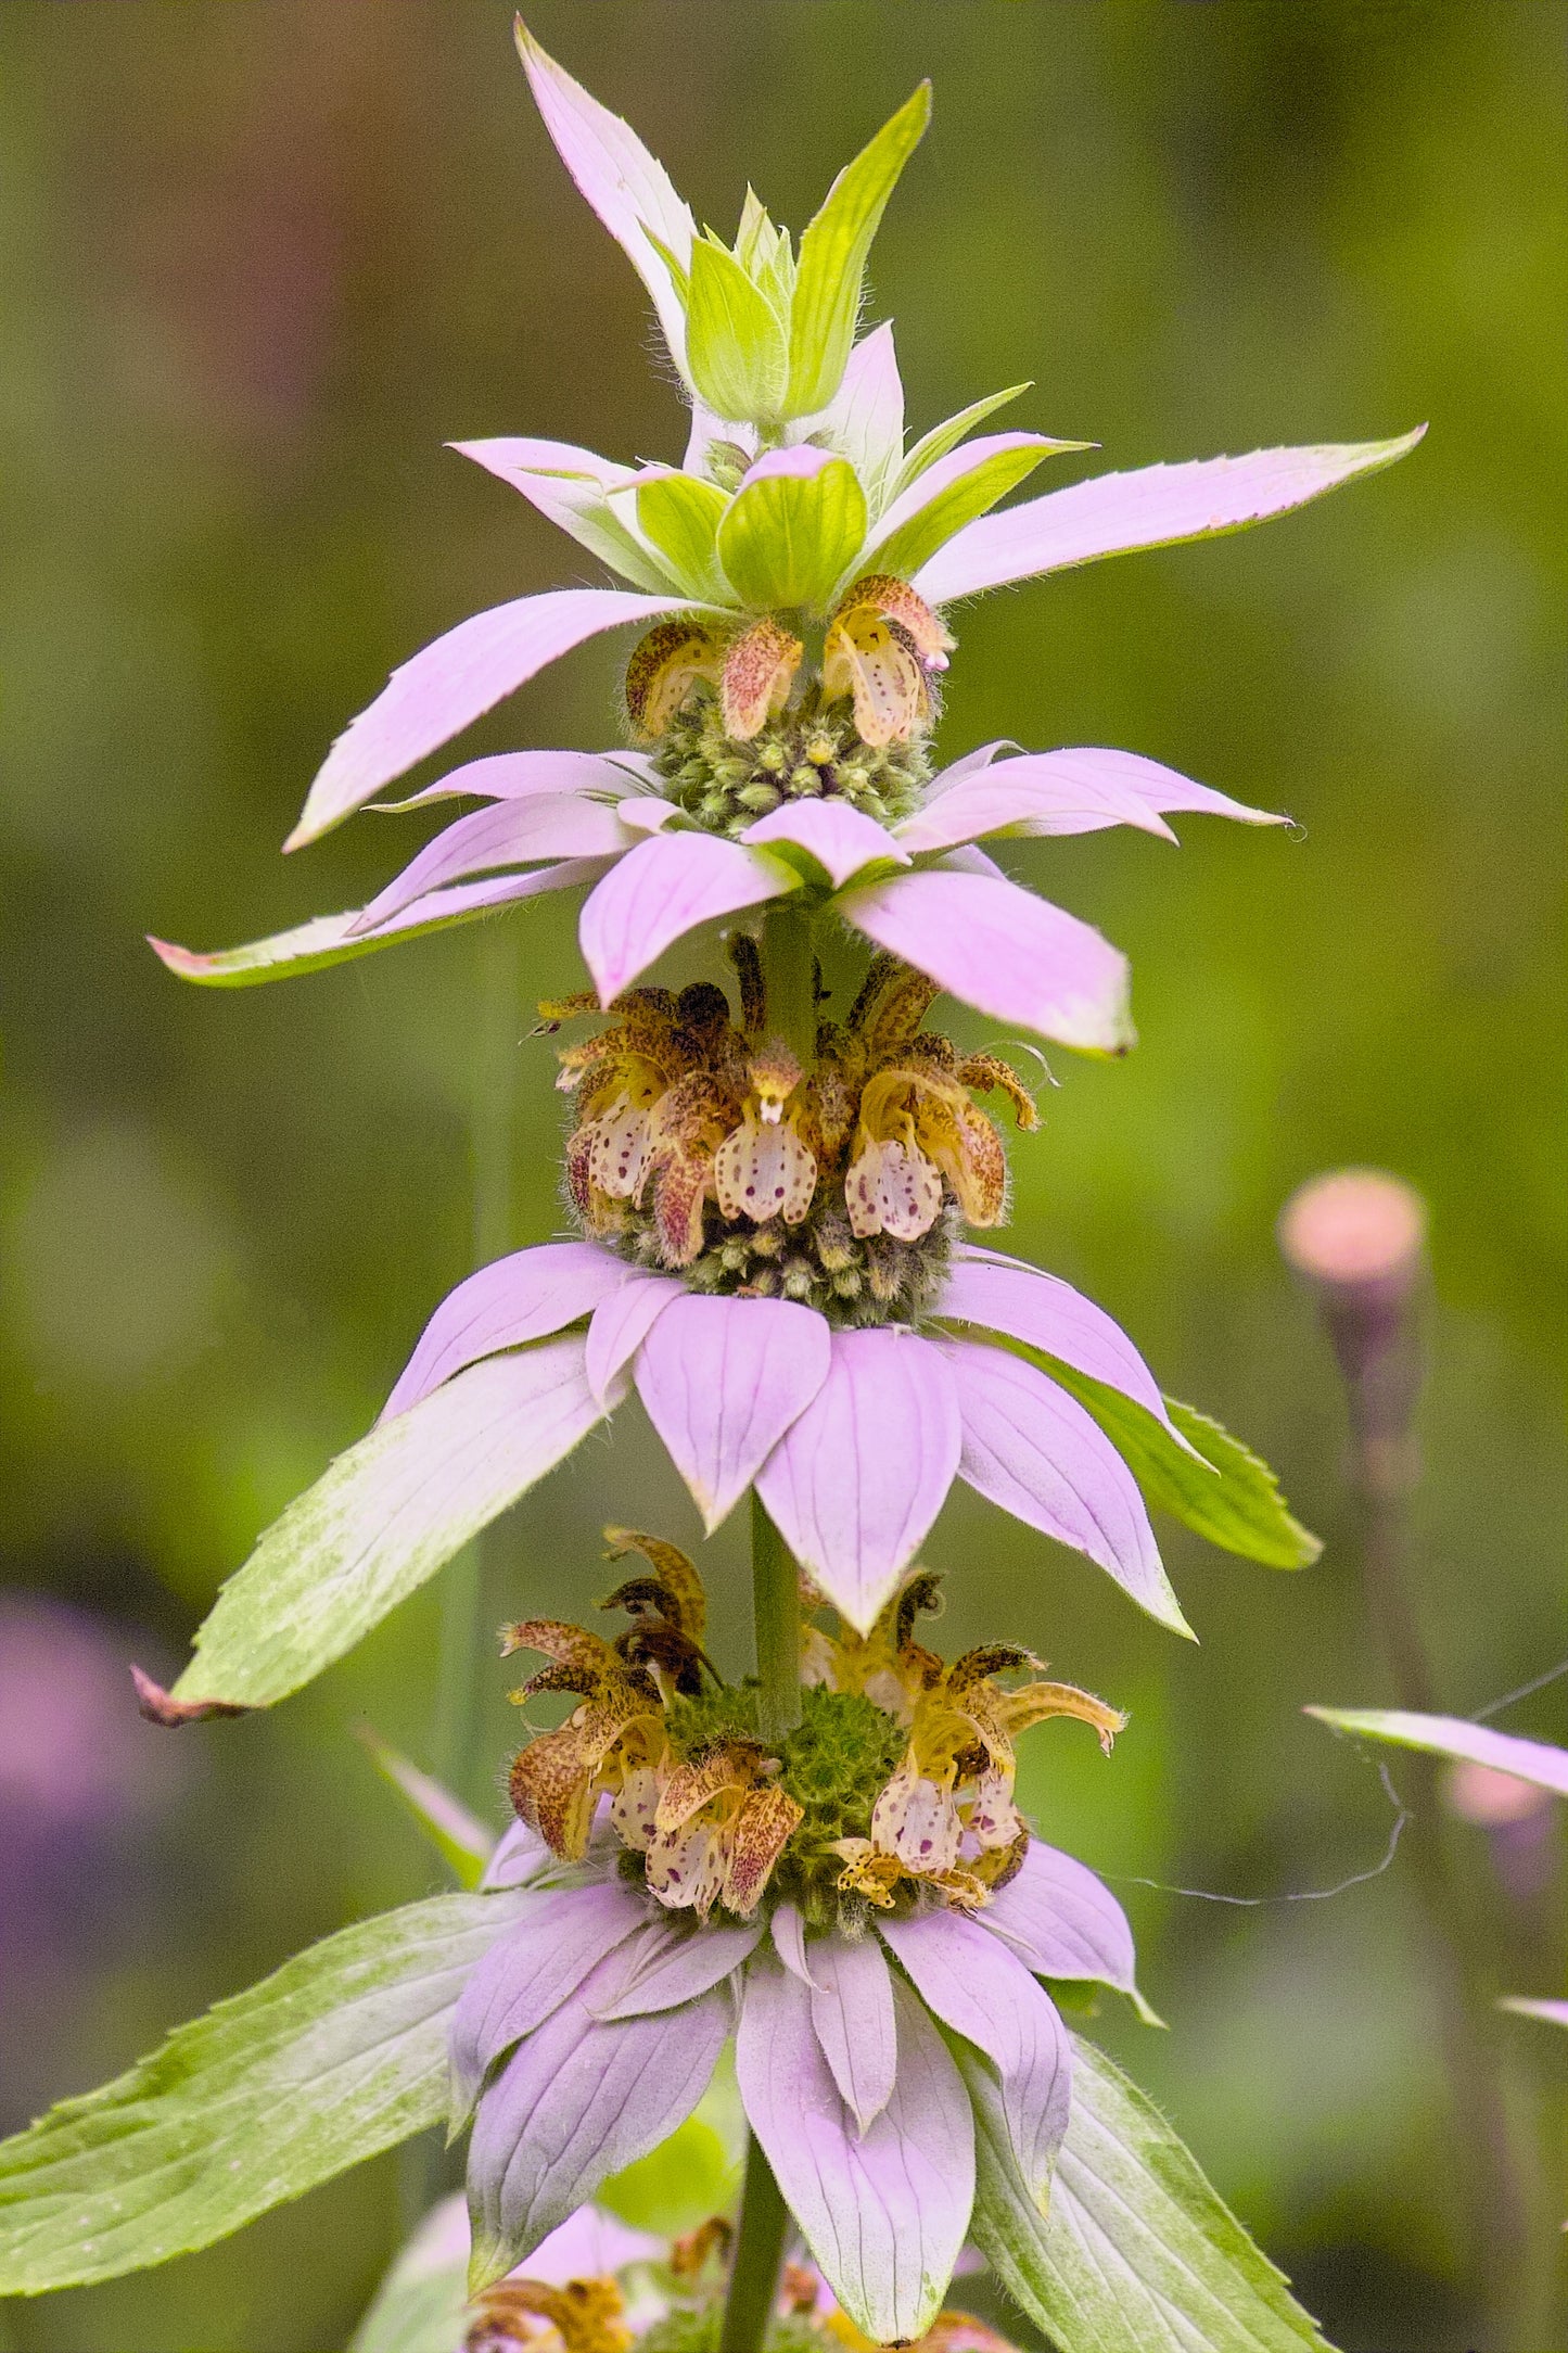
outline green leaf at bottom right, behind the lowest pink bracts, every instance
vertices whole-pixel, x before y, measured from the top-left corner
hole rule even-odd
[[[976,2111],[971,2235],[1058,2353],[1326,2353],[1284,2273],[1220,2202],[1159,2108],[1072,2038],[1072,2115],[1039,2212],[1001,2087],[954,2045]]]

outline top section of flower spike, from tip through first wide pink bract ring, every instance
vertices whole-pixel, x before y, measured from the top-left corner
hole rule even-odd
[[[529,85],[585,200],[642,275],[691,398],[679,466],[567,442],[456,447],[625,586],[498,605],[416,654],[334,744],[289,847],[315,840],[545,664],[609,628],[630,751],[501,753],[414,795],[480,800],[367,908],[226,953],[160,944],[193,981],[242,986],[364,955],[550,889],[590,885],[581,948],[609,1007],[689,932],[790,901],[1044,1038],[1133,1040],[1126,965],[976,845],[1166,814],[1276,824],[1154,760],[1074,748],[933,774],[943,609],[1128,548],[1232,532],[1401,456],[1418,435],[1103,475],[992,513],[1048,456],[1041,433],[969,435],[1027,386],[905,447],[891,327],[858,344],[865,261],[919,141],[922,87],[832,184],[799,249],[748,193],[733,247],[703,231],[637,134],[520,28]]]

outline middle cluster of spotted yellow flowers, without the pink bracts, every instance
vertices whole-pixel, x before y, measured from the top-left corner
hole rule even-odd
[[[635,988],[609,1028],[562,1049],[583,1231],[698,1289],[802,1299],[846,1322],[926,1306],[954,1224],[1006,1212],[1006,1153],[976,1096],[1001,1094],[1025,1129],[1034,1099],[999,1054],[926,1031],[936,986],[891,955],[872,958],[844,1021],[818,1021],[813,1002],[802,1064],[769,1028],[757,944],[729,946],[738,1024],[710,981]],[[590,1012],[592,998],[541,1007],[550,1026]]]

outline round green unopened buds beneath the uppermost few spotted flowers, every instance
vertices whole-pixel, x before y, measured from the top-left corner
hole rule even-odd
[[[863,744],[846,701],[806,699],[750,744],[724,734],[717,699],[698,689],[656,753],[672,800],[710,833],[745,833],[785,800],[846,800],[879,824],[910,816],[931,781],[922,744]]]

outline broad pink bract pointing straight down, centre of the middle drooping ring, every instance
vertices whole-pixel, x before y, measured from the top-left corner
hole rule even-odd
[[[860,1633],[931,1534],[959,1442],[959,1395],[940,1344],[891,1327],[832,1334],[832,1369],[762,1466],[757,1494]]]

